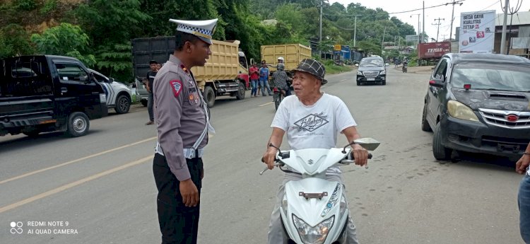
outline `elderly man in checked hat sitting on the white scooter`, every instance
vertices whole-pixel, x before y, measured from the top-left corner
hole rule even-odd
[[[295,76],[293,77],[295,95],[286,97],[280,103],[271,124],[273,130],[267,145],[271,143],[279,147],[285,133],[287,133],[289,146],[293,150],[334,148],[339,132],[344,134],[348,141],[360,138],[357,129],[355,129],[357,124],[346,104],[340,98],[320,91],[320,87],[327,83],[324,74],[326,74],[326,69],[320,62],[313,59],[302,60],[298,68],[295,69]],[[312,124],[304,122],[314,117],[319,117],[326,123],[319,124],[317,127],[310,127]],[[355,164],[367,164],[367,151],[357,144],[354,144],[352,148]],[[267,146],[263,155],[263,160],[269,169],[273,168],[276,151],[277,149]],[[285,193],[285,183],[301,178],[302,176],[298,173],[285,173],[269,224],[269,243],[271,244],[287,243],[288,241],[281,224],[281,199]],[[342,182],[341,171],[338,167],[330,168],[326,172],[326,180]],[[346,234],[347,243],[358,243],[355,225],[351,217],[348,219]]]

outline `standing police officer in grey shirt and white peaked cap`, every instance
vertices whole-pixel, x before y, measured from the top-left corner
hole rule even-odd
[[[188,244],[197,241],[201,157],[208,131],[213,132],[191,69],[206,64],[217,19],[170,21],[177,23],[175,52],[158,71],[153,88],[158,132],[153,173],[162,243]]]

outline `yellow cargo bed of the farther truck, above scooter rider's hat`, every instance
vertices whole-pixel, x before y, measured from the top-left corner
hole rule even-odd
[[[276,71],[278,57],[283,57],[285,71],[292,71],[302,62],[302,59],[311,58],[311,48],[298,43],[261,46],[261,61],[265,60],[270,66],[271,73]]]

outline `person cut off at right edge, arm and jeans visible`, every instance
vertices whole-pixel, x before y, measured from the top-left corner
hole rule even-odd
[[[515,163],[517,173],[524,175],[519,183],[517,204],[519,205],[519,231],[524,243],[530,244],[530,143],[523,156]]]

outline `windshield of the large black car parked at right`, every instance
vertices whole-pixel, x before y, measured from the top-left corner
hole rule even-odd
[[[509,64],[456,64],[451,81],[455,88],[530,91],[530,67]]]

